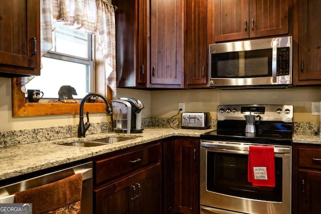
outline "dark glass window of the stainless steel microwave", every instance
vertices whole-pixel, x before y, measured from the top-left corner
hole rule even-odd
[[[211,54],[211,78],[270,76],[272,49]]]

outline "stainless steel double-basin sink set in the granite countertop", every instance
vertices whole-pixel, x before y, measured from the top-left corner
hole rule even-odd
[[[72,143],[65,143],[60,145],[65,146],[75,146],[75,147],[93,147],[93,146],[102,146],[110,143],[116,143],[124,140],[134,139],[136,137],[106,137],[96,140],[89,140],[85,142],[72,142]]]

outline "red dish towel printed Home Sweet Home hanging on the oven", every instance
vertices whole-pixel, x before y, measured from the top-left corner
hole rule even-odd
[[[275,187],[274,148],[250,146],[247,172],[253,186]]]

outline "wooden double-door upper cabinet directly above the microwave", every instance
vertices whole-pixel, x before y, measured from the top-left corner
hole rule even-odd
[[[215,0],[215,41],[288,34],[288,0]]]

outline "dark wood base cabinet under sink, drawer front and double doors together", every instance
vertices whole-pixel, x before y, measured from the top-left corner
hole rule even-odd
[[[161,141],[94,160],[94,213],[161,214]]]

